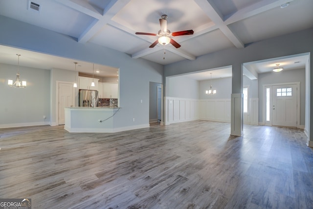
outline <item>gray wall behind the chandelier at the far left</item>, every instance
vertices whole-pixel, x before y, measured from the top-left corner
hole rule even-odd
[[[20,63],[22,59],[21,56]],[[27,87],[10,87],[7,85],[8,79],[15,81],[17,68],[16,65],[0,64],[0,126],[49,124],[50,70],[20,66],[20,77],[27,81]]]

